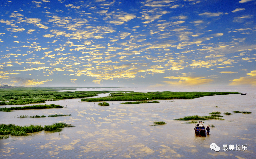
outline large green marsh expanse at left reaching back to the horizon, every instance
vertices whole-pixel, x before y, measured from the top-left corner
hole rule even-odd
[[[0,90],[0,105],[21,105],[33,103],[45,103],[45,101],[73,99],[97,96],[100,93],[110,93],[112,91],[64,91],[57,92],[53,88],[59,90],[86,88],[86,87],[9,87]],[[89,88],[89,87],[87,87]],[[100,87],[90,87],[100,88]],[[107,88],[107,87],[104,87]],[[109,87],[108,87],[109,88]],[[112,87],[113,88],[113,87]],[[116,92],[116,91],[115,91]],[[123,92],[123,91],[117,91]],[[6,102],[9,101],[9,102]]]

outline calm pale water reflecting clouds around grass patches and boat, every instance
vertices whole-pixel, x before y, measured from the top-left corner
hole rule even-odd
[[[83,89],[83,91],[88,90]],[[93,90],[114,91],[113,89]],[[124,88],[115,90],[152,91]],[[0,158],[254,158],[256,91],[251,89],[250,91],[227,90],[227,92],[242,92],[247,95],[207,96],[193,100],[160,100],[160,103],[130,105],[120,104],[120,101],[110,101],[108,102],[110,106],[99,106],[99,102],[81,102],[81,99],[67,99],[45,103],[65,107],[67,104],[67,108],[0,112],[0,123],[4,124],[13,123],[23,126],[65,122],[75,125],[75,127],[63,128],[58,133],[40,131],[30,133],[28,136],[11,136],[8,139],[1,139]],[[218,108],[215,107],[217,105]],[[207,116],[210,112],[216,111],[223,113],[250,111],[252,113],[220,114],[225,120],[206,120],[204,125],[215,125],[213,128],[210,127],[210,135],[206,137],[195,136],[194,124],[173,120],[192,115]],[[71,114],[72,116],[17,118],[20,115],[54,114]],[[153,125],[153,121],[165,121],[167,124],[150,126]],[[220,147],[219,152],[211,150],[212,143]],[[223,151],[223,145],[234,145],[234,147],[246,145],[247,150]]]

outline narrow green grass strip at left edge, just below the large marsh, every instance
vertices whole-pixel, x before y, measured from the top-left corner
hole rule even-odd
[[[50,109],[50,108],[63,108],[63,106],[55,105],[55,104],[32,105],[32,106],[24,106],[24,107],[0,108],[0,111],[11,112],[12,110]]]

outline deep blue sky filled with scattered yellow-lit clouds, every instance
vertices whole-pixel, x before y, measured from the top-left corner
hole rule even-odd
[[[0,85],[256,87],[255,0],[0,1]]]

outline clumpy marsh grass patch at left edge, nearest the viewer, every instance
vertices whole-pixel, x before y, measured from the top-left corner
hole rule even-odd
[[[51,131],[51,132],[57,132],[61,131],[61,128],[64,127],[73,127],[71,124],[66,123],[54,123],[52,125],[25,125],[25,126],[19,126],[14,124],[1,124],[0,125],[0,135],[12,135],[12,136],[25,136],[27,133],[35,133],[38,131]]]

